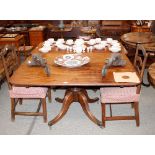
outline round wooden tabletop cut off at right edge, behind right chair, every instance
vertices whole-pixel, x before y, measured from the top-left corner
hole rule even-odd
[[[155,63],[149,66],[148,75],[149,75],[150,83],[155,87]]]

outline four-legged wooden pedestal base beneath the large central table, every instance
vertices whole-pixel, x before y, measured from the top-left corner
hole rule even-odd
[[[89,109],[89,104],[88,103],[93,103],[98,101],[98,98],[95,99],[90,99],[87,91],[82,88],[70,88],[67,89],[65,92],[64,99],[56,98],[56,101],[62,103],[62,108],[60,110],[60,113],[53,119],[51,120],[48,125],[52,126],[55,123],[57,123],[62,117],[67,113],[70,105],[73,102],[79,102],[83,111],[87,115],[87,117],[93,121],[95,124],[98,126],[102,127],[102,122],[99,121],[90,111]]]

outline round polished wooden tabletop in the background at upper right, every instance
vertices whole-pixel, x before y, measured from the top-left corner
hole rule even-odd
[[[123,34],[121,40],[132,47],[143,44],[147,51],[155,52],[155,35],[151,32],[130,32]]]

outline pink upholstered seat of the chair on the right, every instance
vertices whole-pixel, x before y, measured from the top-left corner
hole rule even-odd
[[[139,94],[136,94],[137,87],[108,87],[101,88],[102,103],[123,103],[138,102]]]

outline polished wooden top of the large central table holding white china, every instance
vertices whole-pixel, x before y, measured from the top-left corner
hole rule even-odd
[[[38,53],[40,44],[32,53]],[[90,62],[78,68],[65,68],[54,63],[54,59],[58,56],[64,55],[66,51],[56,51],[52,49],[46,54],[42,54],[43,58],[47,60],[47,64],[51,70],[51,76],[48,77],[41,67],[29,67],[27,61],[29,57],[20,67],[15,71],[11,77],[10,82],[13,85],[31,85],[31,86],[113,86],[113,85],[132,85],[132,83],[116,83],[113,78],[113,72],[135,71],[133,65],[124,53],[125,49],[122,46],[122,58],[127,61],[124,67],[110,67],[107,75],[102,77],[101,71],[105,64],[105,60],[111,56],[108,50],[93,51],[83,53],[90,58]],[[134,83],[133,83],[134,85]]]

